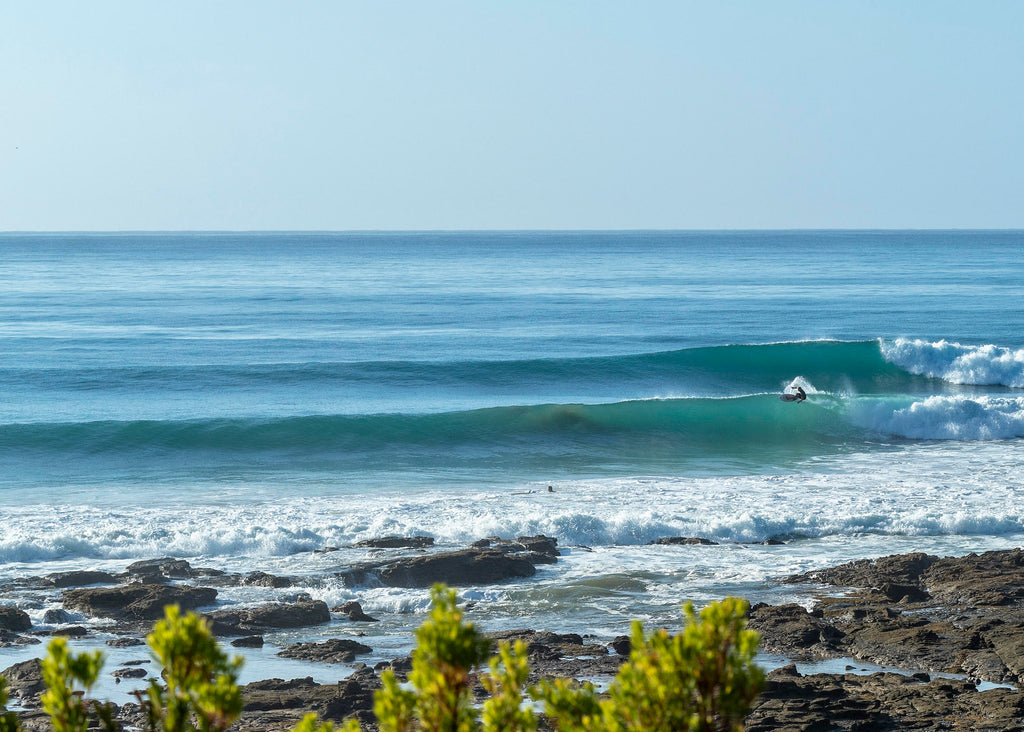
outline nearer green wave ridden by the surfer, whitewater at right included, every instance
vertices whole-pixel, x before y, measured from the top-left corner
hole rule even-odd
[[[868,433],[916,439],[1024,435],[1024,397],[838,397],[787,404],[775,394],[604,404],[500,406],[445,414],[85,422],[0,426],[0,451],[365,451],[466,446],[514,449],[660,441],[741,449],[764,442],[838,442]]]

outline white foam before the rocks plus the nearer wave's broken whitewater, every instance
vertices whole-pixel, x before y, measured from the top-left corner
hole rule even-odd
[[[510,485],[267,497],[246,507],[218,504],[216,491],[181,505],[117,510],[47,501],[5,511],[0,574],[66,569],[120,571],[162,556],[228,571],[262,569],[323,576],[368,557],[362,550],[314,554],[386,534],[434,536],[438,548],[483,536],[545,533],[571,547],[641,547],[665,536],[720,543],[773,535],[993,536],[1024,532],[1024,442],[973,441],[1024,433],[1024,397],[932,397],[904,406],[859,399],[874,429],[944,442],[887,453],[818,459],[790,475],[580,478],[549,493]],[[545,484],[546,485],[546,484]],[[698,550],[697,550],[698,551]],[[351,599],[323,587],[332,603]],[[383,605],[397,609],[383,596]],[[407,602],[402,599],[400,602]]]

